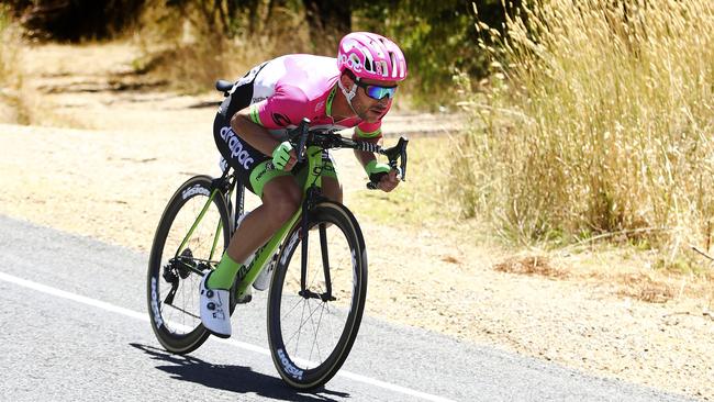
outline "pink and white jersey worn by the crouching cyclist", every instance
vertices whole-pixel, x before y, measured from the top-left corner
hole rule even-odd
[[[297,127],[303,118],[310,119],[311,129],[338,131],[355,127],[359,137],[372,141],[381,137],[381,119],[376,123],[357,116],[341,121],[333,119],[332,102],[339,79],[335,58],[281,56],[256,67],[243,79],[253,79],[253,76],[250,120],[268,129],[278,139],[285,139],[287,131]]]

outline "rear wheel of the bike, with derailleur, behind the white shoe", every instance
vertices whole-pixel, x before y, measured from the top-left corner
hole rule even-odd
[[[221,259],[231,239],[224,197],[217,193],[209,202],[211,180],[209,176],[196,176],[174,193],[149,256],[147,301],[152,330],[161,346],[176,354],[196,350],[210,335],[201,324],[199,283]]]

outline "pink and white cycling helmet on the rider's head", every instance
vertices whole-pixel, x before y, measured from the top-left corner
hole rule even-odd
[[[369,32],[353,32],[339,41],[337,67],[357,78],[401,81],[406,78],[406,59],[397,44]]]

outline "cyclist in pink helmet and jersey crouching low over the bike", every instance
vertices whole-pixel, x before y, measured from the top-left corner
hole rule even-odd
[[[355,127],[354,138],[376,143],[381,119],[405,77],[399,46],[378,34],[355,32],[341,40],[336,59],[281,56],[256,66],[233,86],[219,108],[213,136],[222,157],[263,204],[244,216],[216,269],[201,280],[200,312],[207,330],[231,336],[227,289],[236,272],[300,206],[298,182],[306,169],[295,166],[288,130],[308,118],[311,129]],[[381,176],[379,189],[389,192],[398,186],[397,171],[372,153],[356,150],[355,156],[370,178]],[[325,152],[322,158],[323,194],[342,202],[332,157]],[[275,169],[268,169],[269,161]]]

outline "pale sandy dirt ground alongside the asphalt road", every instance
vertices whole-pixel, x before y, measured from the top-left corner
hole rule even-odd
[[[217,92],[187,97],[118,83],[135,55],[126,44],[25,49],[24,90],[48,126],[0,125],[1,214],[146,253],[176,187],[217,172]],[[417,131],[442,130],[439,121],[401,113],[386,131],[409,132],[415,122]],[[83,129],[53,127],[57,122]],[[352,153],[335,156],[349,205],[365,177]],[[543,261],[472,246],[454,231],[358,219],[369,250],[368,314],[714,400],[710,299],[680,291],[647,303],[613,291],[606,276],[538,275]]]

